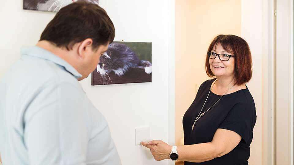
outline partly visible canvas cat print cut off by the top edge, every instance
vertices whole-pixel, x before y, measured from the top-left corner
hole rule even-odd
[[[28,10],[58,12],[62,7],[77,1],[98,4],[98,0],[23,0],[23,8]]]

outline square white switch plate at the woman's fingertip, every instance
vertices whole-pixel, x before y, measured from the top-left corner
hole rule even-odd
[[[148,142],[150,140],[150,127],[136,127],[135,128],[135,145],[140,145],[141,141]]]

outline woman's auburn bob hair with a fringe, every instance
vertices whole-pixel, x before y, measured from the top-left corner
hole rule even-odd
[[[249,82],[252,77],[252,57],[250,48],[247,42],[236,35],[218,35],[210,43],[208,52],[211,52],[213,48],[216,48],[220,44],[224,50],[232,53],[235,58],[235,70],[234,79],[236,85],[242,85]],[[206,74],[209,77],[213,77],[213,72],[210,69],[209,57],[206,56],[205,62]]]

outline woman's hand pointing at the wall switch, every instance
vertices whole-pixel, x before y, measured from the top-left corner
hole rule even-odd
[[[141,145],[150,149],[155,160],[160,161],[164,159],[169,159],[169,154],[171,153],[172,146],[166,144],[161,140],[153,140],[148,143],[141,141]]]

